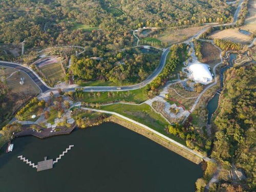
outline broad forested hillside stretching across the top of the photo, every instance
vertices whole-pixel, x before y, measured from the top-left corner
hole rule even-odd
[[[85,45],[104,49],[129,45],[131,30],[138,27],[229,22],[233,11],[221,0],[3,0],[0,10],[0,43],[26,40],[27,47],[42,47],[91,41]]]

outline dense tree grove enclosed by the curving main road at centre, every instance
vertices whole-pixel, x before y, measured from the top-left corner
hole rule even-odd
[[[154,51],[153,51],[154,52]],[[159,65],[160,52],[141,53],[139,49],[128,49],[102,60],[73,57],[70,71],[79,81],[111,81],[116,84],[141,82]]]

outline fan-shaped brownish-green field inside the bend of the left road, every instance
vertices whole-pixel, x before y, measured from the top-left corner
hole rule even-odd
[[[63,80],[63,78],[65,77],[65,74],[62,70],[60,62],[50,63],[49,65],[42,66],[40,67],[40,70],[42,73],[46,75],[47,79],[53,84]]]

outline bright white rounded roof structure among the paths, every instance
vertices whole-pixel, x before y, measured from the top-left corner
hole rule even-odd
[[[187,69],[189,71],[189,78],[193,79],[196,82],[208,84],[212,81],[212,76],[208,69],[208,66],[199,61],[191,63],[191,65],[189,65]]]

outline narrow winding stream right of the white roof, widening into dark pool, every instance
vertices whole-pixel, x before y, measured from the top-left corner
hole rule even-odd
[[[221,89],[217,91],[217,93],[212,97],[212,99],[209,100],[207,103],[207,110],[208,110],[208,118],[207,118],[207,123],[210,124],[211,116],[214,114],[214,112],[218,108],[219,104],[219,98],[220,98],[220,92],[223,89],[223,80],[224,80],[224,73],[229,69],[230,67],[233,66],[233,60],[237,58],[237,53],[231,53],[229,56],[229,65],[221,68],[221,73],[220,73],[220,81],[221,81]]]

